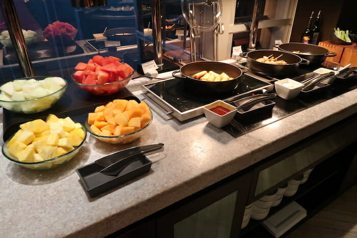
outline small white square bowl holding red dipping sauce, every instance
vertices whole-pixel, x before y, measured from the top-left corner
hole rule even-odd
[[[217,113],[214,113],[210,110],[210,109],[213,109],[218,106],[226,108],[226,109],[230,110],[231,112],[228,112],[224,115],[218,115]],[[236,109],[236,107],[234,107],[233,105],[228,104],[222,100],[217,100],[215,102],[212,102],[211,104],[205,105],[205,107],[203,107],[203,112],[205,112],[205,116],[206,116],[207,120],[212,125],[220,128],[220,127],[230,124],[230,122],[232,121],[232,119],[234,118],[234,116],[237,113],[237,110],[235,110],[235,109]]]

